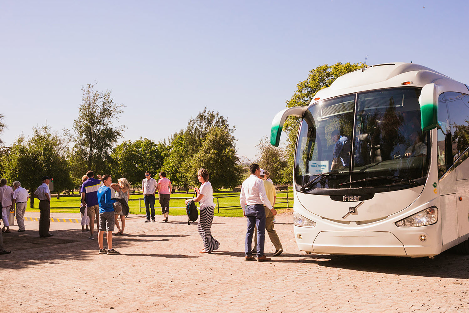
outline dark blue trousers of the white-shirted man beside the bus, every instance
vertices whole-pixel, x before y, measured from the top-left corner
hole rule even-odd
[[[246,232],[246,243],[244,253],[251,256],[251,243],[254,234],[254,226],[257,227],[257,257],[264,255],[265,241],[265,210],[262,204],[253,204],[246,206],[246,217],[248,218],[248,231]]]

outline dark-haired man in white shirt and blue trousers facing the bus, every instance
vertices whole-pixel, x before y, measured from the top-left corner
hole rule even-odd
[[[248,218],[248,230],[244,252],[245,260],[254,260],[251,252],[251,242],[254,233],[254,226],[257,227],[257,261],[270,261],[264,254],[265,242],[265,210],[269,208],[273,215],[277,214],[265,194],[264,182],[259,178],[260,170],[258,164],[251,164],[249,167],[251,175],[242,183],[239,201],[242,213]]]

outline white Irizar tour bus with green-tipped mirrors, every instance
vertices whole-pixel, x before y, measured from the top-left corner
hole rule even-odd
[[[358,69],[308,107],[295,150],[294,230],[307,253],[469,252],[469,87],[413,63]]]

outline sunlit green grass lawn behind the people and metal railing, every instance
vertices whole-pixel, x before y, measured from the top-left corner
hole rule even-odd
[[[193,192],[191,193],[174,193],[171,195],[171,201],[169,203],[169,214],[171,215],[186,215],[186,206],[184,205],[185,198],[192,198]],[[217,198],[216,197],[227,197],[233,196],[229,198]],[[142,198],[141,201],[138,198]],[[156,214],[160,214],[160,208],[158,203],[158,196],[156,197],[155,201],[155,212]],[[181,199],[179,199],[181,198]],[[213,198],[215,201],[215,205],[220,206],[218,209],[215,207],[215,215],[217,216],[242,216],[242,210],[239,206],[239,192],[214,192]],[[277,202],[285,202],[287,201],[287,194],[286,193],[278,193],[277,194]],[[293,209],[293,191],[288,191],[288,201],[290,209]],[[139,208],[139,202],[141,202],[141,209]],[[39,201],[35,199],[34,206],[35,208],[30,208],[29,204],[26,208],[27,212],[39,212],[38,209]],[[177,208],[177,207],[181,208]],[[234,207],[226,207],[226,206],[234,206]],[[70,196],[61,196],[60,199],[56,197],[52,197],[51,199],[51,213],[79,213],[80,207],[80,196],[79,195],[70,195]],[[145,205],[143,201],[142,194],[135,194],[130,195],[129,201],[130,207],[130,214],[145,214]],[[275,209],[278,213],[286,212],[287,211],[287,203],[280,203],[275,205]],[[219,213],[218,213],[219,212]]]

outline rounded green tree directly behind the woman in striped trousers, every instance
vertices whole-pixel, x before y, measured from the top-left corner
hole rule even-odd
[[[199,184],[197,170],[205,168],[210,174],[210,182],[215,190],[221,187],[232,188],[242,181],[242,166],[236,155],[236,139],[229,130],[212,127],[192,160],[192,182]]]

